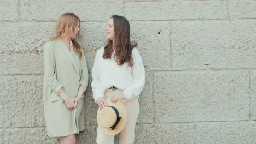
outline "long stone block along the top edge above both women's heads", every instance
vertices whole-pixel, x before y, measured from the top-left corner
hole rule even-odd
[[[112,14],[122,14],[123,1],[21,1],[22,21],[57,21],[72,12],[82,21],[106,21]]]

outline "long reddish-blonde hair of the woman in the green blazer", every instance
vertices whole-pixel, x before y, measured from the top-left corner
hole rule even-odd
[[[74,31],[75,26],[77,26],[79,23],[79,29],[80,29],[80,19],[77,15],[74,13],[64,13],[59,17],[59,20],[57,21],[56,24],[56,29],[55,29],[55,35],[50,38],[50,40],[56,40],[62,38],[64,35],[71,33],[71,28],[72,31]],[[81,38],[80,31],[77,34],[78,38]],[[80,45],[77,43],[77,41],[74,40],[74,38],[71,39],[72,44],[73,44],[73,50],[79,58],[82,58],[82,50]]]

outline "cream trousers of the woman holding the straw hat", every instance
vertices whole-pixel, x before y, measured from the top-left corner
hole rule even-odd
[[[105,97],[112,98],[114,94],[118,92],[123,92],[120,89],[113,91],[112,89],[107,89],[105,91]],[[137,122],[138,114],[139,114],[139,102],[138,99],[132,100],[120,100],[121,103],[124,104],[127,119],[124,129],[120,132],[119,135],[119,144],[132,144],[134,142],[135,135],[135,125]],[[100,127],[97,129],[97,144],[113,144],[115,135],[105,134]]]

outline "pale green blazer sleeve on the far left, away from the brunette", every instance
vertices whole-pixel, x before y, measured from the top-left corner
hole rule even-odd
[[[51,90],[59,95],[63,86],[56,79],[56,65],[53,49],[54,47],[51,43],[47,43],[44,47],[44,76]]]

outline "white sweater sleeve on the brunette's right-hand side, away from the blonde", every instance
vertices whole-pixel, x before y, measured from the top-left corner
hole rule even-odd
[[[127,100],[131,100],[133,98],[138,98],[139,94],[142,92],[145,86],[145,70],[141,55],[136,48],[133,48],[132,51],[133,56],[133,83],[129,87],[127,87],[123,94]]]

